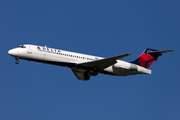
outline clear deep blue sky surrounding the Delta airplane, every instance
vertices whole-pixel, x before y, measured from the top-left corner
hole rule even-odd
[[[179,120],[180,2],[177,0],[6,0],[0,2],[1,120]],[[91,77],[59,66],[15,59],[21,44],[102,57],[145,48],[163,54],[151,75]]]

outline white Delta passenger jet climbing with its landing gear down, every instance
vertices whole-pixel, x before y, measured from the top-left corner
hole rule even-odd
[[[31,44],[20,45],[17,48],[9,50],[8,54],[15,57],[16,64],[19,64],[19,59],[24,59],[35,61],[38,64],[41,62],[68,67],[77,79],[87,81],[91,76],[96,76],[99,73],[113,76],[151,74],[151,70],[148,69],[150,65],[154,61],[157,61],[162,53],[171,51],[175,50],[158,51],[147,48],[138,58],[131,62],[119,60],[131,55],[130,53],[103,58]]]

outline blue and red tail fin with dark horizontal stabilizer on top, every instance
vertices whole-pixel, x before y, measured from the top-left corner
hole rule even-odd
[[[163,50],[163,51],[158,51],[155,49],[145,49],[143,54],[141,54],[138,58],[135,60],[131,61],[130,63],[149,68],[154,61],[157,61],[158,57],[162,55],[162,53],[166,52],[171,52],[175,50]]]

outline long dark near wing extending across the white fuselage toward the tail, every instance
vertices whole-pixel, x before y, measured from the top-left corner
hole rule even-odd
[[[126,56],[129,56],[129,55],[131,55],[131,54],[126,53],[126,54],[123,54],[123,55],[118,55],[118,56],[105,58],[105,59],[101,59],[101,60],[96,60],[96,61],[91,61],[91,62],[86,62],[86,63],[80,63],[80,64],[77,64],[77,65],[82,66],[82,67],[86,67],[86,68],[96,68],[99,71],[101,71],[101,70],[103,70],[103,69],[117,63],[116,60],[122,59],[122,58],[124,58]]]

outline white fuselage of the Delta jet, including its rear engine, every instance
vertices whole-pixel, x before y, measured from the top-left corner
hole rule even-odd
[[[98,61],[105,59],[103,57],[80,54],[75,52],[69,52],[59,49],[53,49],[49,47],[42,47],[37,45],[24,45],[24,47],[18,47],[9,50],[8,52],[11,56],[25,59],[29,61],[42,62],[52,65],[65,66],[69,68],[78,69],[89,69],[86,67],[81,67],[79,64],[88,63],[92,61]],[[115,75],[115,76],[127,76],[134,74],[151,74],[151,70],[144,67],[125,62],[122,60],[117,60],[114,65],[108,66],[99,73]]]

